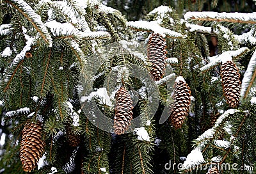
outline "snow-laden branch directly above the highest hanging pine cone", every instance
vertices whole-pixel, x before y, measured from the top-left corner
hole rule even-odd
[[[154,31],[154,33],[159,33],[161,35],[169,36],[171,38],[183,38],[184,36],[181,33],[172,31],[170,29],[163,28],[159,26],[158,21],[131,21],[127,22],[127,26],[138,29],[142,31]]]

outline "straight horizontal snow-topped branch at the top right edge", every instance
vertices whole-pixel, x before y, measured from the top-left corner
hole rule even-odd
[[[187,12],[184,19],[256,24],[256,13]]]

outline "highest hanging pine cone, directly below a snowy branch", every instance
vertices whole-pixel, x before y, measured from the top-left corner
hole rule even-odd
[[[164,74],[166,59],[166,43],[162,35],[153,33],[148,41],[148,59],[152,63],[151,74],[159,81]]]

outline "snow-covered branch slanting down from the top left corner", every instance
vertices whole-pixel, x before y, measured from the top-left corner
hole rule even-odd
[[[35,11],[23,0],[6,0],[8,4],[13,6],[18,12],[22,14],[32,26],[36,29],[44,41],[48,44],[49,47],[52,47],[52,38],[47,28],[44,26],[44,23],[41,20],[40,15],[35,13]]]

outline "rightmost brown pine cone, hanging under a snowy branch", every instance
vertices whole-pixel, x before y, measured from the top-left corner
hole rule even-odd
[[[239,104],[241,81],[239,70],[233,61],[227,61],[221,65],[221,79],[223,93],[230,107],[235,108]]]

